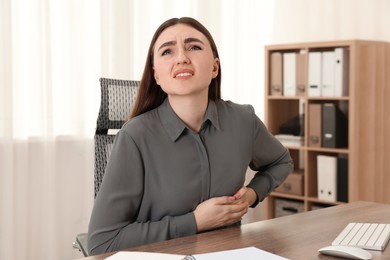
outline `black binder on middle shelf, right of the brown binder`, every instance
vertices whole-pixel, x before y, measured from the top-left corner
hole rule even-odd
[[[348,147],[348,119],[333,103],[322,104],[322,147]]]

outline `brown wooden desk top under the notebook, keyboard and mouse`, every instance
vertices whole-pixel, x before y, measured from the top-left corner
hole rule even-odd
[[[390,205],[353,202],[128,250],[187,255],[255,246],[289,259],[336,259],[317,250],[330,245],[349,222],[390,223]],[[390,259],[390,245],[384,251],[370,252],[373,259]]]

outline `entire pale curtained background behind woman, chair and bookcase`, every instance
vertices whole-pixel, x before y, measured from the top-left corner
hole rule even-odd
[[[389,13],[388,0],[0,0],[0,259],[82,256],[98,78],[140,79],[166,19],[211,31],[223,97],[262,117],[264,45],[389,41]]]

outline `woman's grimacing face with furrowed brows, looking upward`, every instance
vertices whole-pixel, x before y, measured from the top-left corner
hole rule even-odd
[[[185,24],[165,29],[154,45],[154,77],[168,96],[207,95],[218,75],[208,39]]]

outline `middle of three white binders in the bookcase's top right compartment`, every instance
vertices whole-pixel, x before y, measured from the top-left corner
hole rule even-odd
[[[335,96],[335,52],[322,52],[322,81],[321,81],[321,96]]]

